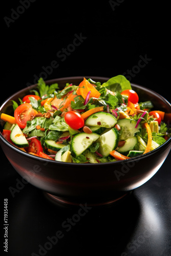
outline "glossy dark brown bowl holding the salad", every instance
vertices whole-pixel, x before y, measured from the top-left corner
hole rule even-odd
[[[89,78],[89,77],[88,77]],[[105,82],[109,78],[91,77],[95,81]],[[83,77],[65,77],[46,81],[57,82],[62,89],[66,83],[78,85]],[[20,90],[10,96],[0,108],[1,113],[13,115],[11,100],[18,101],[36,84]],[[155,109],[171,112],[170,103],[158,93],[132,83],[140,101],[152,100]],[[4,122],[1,120],[1,131]],[[49,196],[61,202],[71,204],[87,203],[101,205],[124,197],[131,191],[151,179],[166,159],[171,138],[154,151],[145,155],[109,163],[75,164],[46,160],[27,154],[10,144],[0,133],[3,151],[17,173],[32,185],[44,190]]]

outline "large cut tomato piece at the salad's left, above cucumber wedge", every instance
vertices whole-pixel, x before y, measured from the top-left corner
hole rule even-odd
[[[32,120],[36,114],[37,111],[32,109],[32,106],[29,103],[23,103],[17,106],[14,111],[16,123],[21,129],[24,129],[26,127],[27,121]]]

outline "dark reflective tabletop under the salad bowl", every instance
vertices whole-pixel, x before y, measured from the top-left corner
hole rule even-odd
[[[151,180],[117,203],[100,207],[54,204],[16,173],[3,152],[1,156],[8,255],[170,255],[171,154]]]

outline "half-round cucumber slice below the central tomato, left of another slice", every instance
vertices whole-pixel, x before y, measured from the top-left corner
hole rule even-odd
[[[76,134],[71,142],[71,153],[72,155],[79,156],[81,155],[87,148],[95,142],[100,137],[99,134],[96,133],[79,133]]]

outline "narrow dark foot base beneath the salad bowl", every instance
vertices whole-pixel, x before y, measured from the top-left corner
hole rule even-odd
[[[118,201],[121,201],[122,199],[126,198],[127,196],[129,196],[131,194],[131,191],[124,191],[123,193],[117,193],[115,197],[113,197],[110,200],[101,200],[101,201],[96,201],[96,202],[87,202],[87,201],[82,201],[80,200],[80,202],[76,202],[76,201],[70,201],[70,200],[66,200],[63,198],[60,198],[58,196],[49,194],[49,193],[45,193],[45,196],[52,202],[55,203],[57,205],[70,205],[70,206],[79,206],[80,204],[86,204],[87,206],[103,206],[103,205],[111,205],[114,203],[117,203]]]

